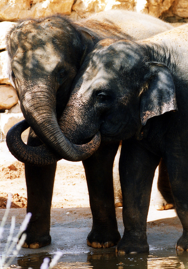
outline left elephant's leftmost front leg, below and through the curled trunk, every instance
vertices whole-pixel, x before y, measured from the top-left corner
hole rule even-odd
[[[30,132],[27,144],[38,146],[41,142]],[[31,212],[32,217],[25,231],[27,237],[23,247],[40,248],[51,242],[50,209],[56,164],[42,167],[25,164],[27,213]]]

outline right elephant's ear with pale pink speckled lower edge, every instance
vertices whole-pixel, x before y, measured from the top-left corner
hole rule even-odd
[[[159,116],[165,112],[177,110],[175,85],[166,65],[149,62],[145,81],[147,89],[141,94],[140,116],[142,125],[149,118]]]

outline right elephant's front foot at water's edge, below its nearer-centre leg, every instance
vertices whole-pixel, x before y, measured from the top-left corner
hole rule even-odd
[[[149,245],[146,235],[144,236],[131,236],[123,235],[123,238],[119,241],[116,247],[116,253],[120,256],[125,254],[135,254],[149,251]]]

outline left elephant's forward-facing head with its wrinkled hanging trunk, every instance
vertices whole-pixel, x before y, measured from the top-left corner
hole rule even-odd
[[[70,95],[70,86],[93,41],[66,18],[54,16],[16,24],[7,37],[9,77],[25,119],[56,158],[76,157],[57,119]],[[92,147],[98,147],[100,142]],[[90,152],[91,148],[88,152]],[[83,152],[83,150],[81,149]],[[87,152],[87,147],[84,149]],[[74,154],[72,154],[74,152]],[[77,158],[76,158],[77,160]]]

